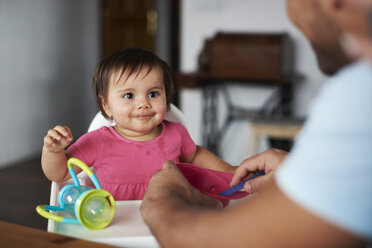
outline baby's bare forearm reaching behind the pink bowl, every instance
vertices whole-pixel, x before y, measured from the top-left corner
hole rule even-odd
[[[196,146],[196,149],[193,153],[188,156],[181,157],[180,161],[199,165],[207,169],[231,173],[234,173],[237,168],[236,166],[226,163],[215,154],[201,146]]]

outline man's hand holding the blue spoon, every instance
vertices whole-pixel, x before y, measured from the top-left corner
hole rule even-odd
[[[247,193],[254,193],[261,190],[269,181],[274,178],[274,172],[287,156],[287,152],[279,149],[269,149],[244,160],[236,170],[231,186],[236,185],[244,178],[252,176],[256,171],[265,171],[264,176],[252,179],[244,184]]]

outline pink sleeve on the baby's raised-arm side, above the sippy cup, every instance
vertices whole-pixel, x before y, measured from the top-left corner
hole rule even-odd
[[[82,160],[89,167],[96,167],[95,162],[98,161],[98,156],[103,145],[100,137],[98,130],[86,133],[67,150],[71,153],[72,157]]]

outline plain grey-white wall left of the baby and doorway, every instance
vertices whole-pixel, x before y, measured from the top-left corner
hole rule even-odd
[[[0,167],[40,154],[56,124],[86,130],[98,15],[98,0],[0,0]]]

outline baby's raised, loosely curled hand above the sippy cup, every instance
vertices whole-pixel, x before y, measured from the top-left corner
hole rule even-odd
[[[49,129],[48,134],[44,137],[44,147],[52,153],[64,151],[72,142],[71,130],[67,126],[57,125]]]

